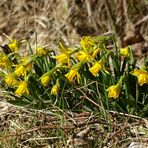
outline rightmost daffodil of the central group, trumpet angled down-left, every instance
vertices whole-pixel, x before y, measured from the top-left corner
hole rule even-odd
[[[89,71],[96,77],[98,72],[103,68],[103,60],[96,62],[92,67],[89,68]]]

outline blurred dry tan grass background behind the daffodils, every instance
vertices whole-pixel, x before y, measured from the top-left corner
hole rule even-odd
[[[139,56],[147,52],[148,0],[0,0],[0,32],[52,48],[84,35],[115,34]],[[1,35],[0,44],[7,42]]]

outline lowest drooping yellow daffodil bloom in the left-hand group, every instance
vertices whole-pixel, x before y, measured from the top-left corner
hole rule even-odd
[[[18,96],[22,96],[22,94],[26,93],[27,95],[29,95],[29,90],[28,90],[28,87],[27,87],[27,83],[25,81],[22,81],[17,90],[15,91],[15,94],[18,95]]]

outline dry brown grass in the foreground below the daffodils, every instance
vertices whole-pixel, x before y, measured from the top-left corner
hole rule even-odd
[[[42,111],[0,103],[0,147],[146,147],[147,120],[107,111],[98,113],[63,112],[58,108]]]

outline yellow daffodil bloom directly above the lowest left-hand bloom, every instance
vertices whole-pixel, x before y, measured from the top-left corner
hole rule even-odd
[[[18,65],[16,68],[15,68],[15,71],[14,73],[20,77],[20,76],[26,76],[27,74],[27,69],[25,68],[25,66],[23,65]]]

